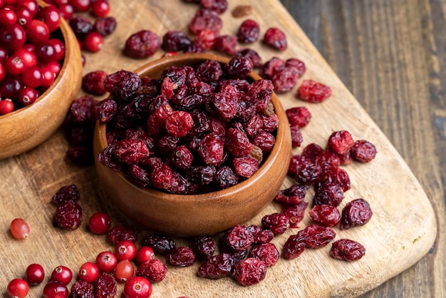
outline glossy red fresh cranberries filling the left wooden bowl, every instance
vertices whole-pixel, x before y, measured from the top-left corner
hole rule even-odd
[[[34,103],[58,76],[60,21],[57,9],[36,0],[0,1],[0,115]]]

